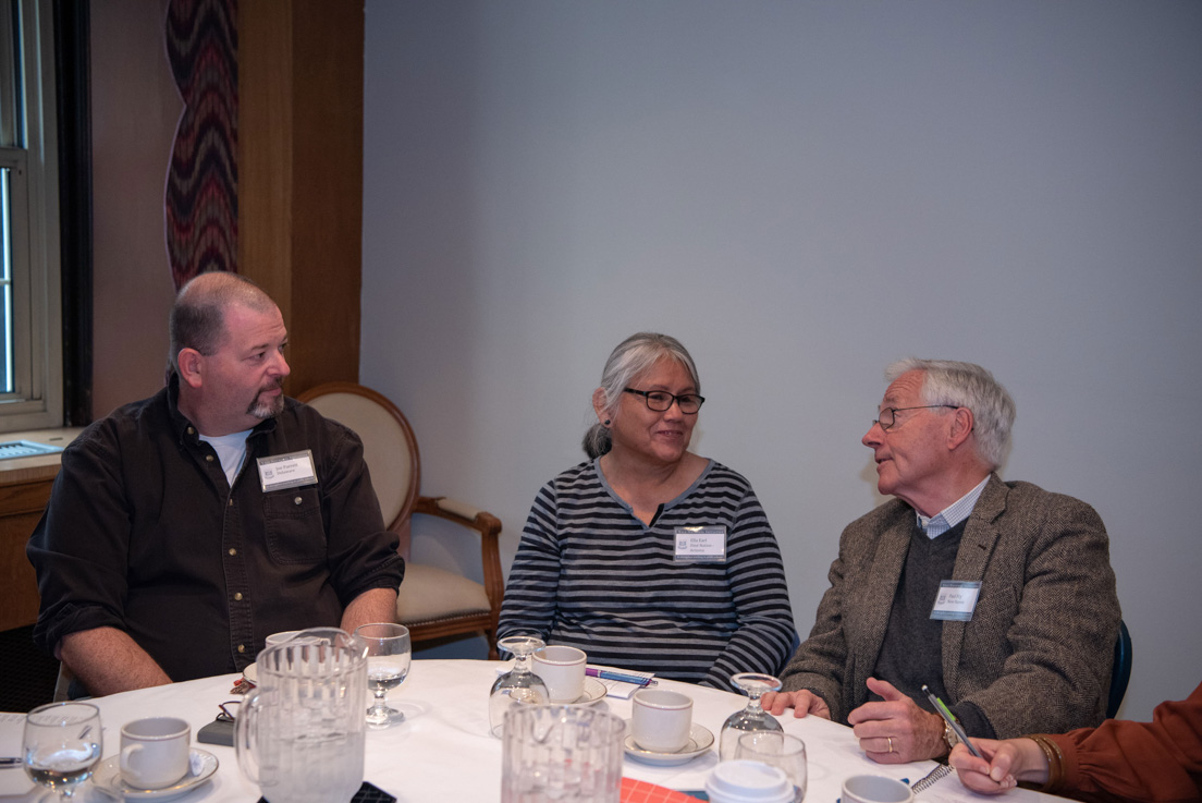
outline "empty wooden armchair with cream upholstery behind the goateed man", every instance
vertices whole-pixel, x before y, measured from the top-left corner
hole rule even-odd
[[[397,620],[416,642],[483,632],[488,655],[496,659],[496,618],[505,581],[498,536],[501,522],[447,496],[422,496],[417,439],[404,414],[371,388],[353,382],[327,382],[297,397],[327,418],[353,429],[363,440],[363,456],[388,529],[400,537],[405,579],[397,599]],[[480,534],[484,584],[435,566],[410,560],[410,518],[413,513],[454,522]]]

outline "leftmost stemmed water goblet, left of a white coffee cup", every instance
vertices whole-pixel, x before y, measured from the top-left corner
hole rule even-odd
[[[69,801],[100,763],[105,739],[100,709],[89,703],[38,706],[25,715],[22,761],[35,783],[50,790],[42,798]]]

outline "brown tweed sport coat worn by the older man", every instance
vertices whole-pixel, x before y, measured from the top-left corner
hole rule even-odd
[[[822,697],[837,722],[868,701],[914,528],[898,499],[847,525],[814,629],[781,676],[786,691]],[[975,703],[998,738],[1102,721],[1120,611],[1093,507],[992,475],[950,579],[981,581],[981,594],[971,621],[942,624],[948,704]]]

